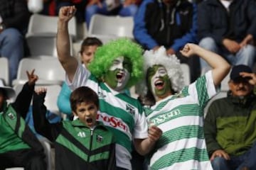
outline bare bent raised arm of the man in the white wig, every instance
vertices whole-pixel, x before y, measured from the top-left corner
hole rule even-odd
[[[218,86],[230,71],[230,64],[228,64],[223,57],[214,52],[203,49],[198,45],[191,43],[186,44],[183,47],[183,50],[181,50],[181,54],[186,57],[198,55],[198,57],[205,60],[210,67],[212,67],[213,81],[215,86]]]

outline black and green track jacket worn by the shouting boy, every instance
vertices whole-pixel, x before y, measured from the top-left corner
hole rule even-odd
[[[54,142],[56,169],[116,169],[112,132],[100,123],[90,130],[80,120],[49,123],[43,104],[45,95],[33,96],[33,120],[36,131]]]

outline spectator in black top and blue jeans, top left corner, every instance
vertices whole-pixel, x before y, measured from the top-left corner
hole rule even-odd
[[[0,0],[0,4],[0,57],[9,60],[11,84],[24,57],[24,35],[30,14],[26,0]]]

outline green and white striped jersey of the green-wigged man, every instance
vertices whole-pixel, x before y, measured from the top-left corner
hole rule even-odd
[[[110,128],[117,139],[117,166],[132,169],[130,163],[132,139],[148,137],[146,117],[139,101],[97,81],[85,67],[82,67],[82,64],[78,65],[73,82],[70,83],[68,77],[66,81],[70,89],[89,86],[97,93],[100,99],[100,112],[97,120]]]

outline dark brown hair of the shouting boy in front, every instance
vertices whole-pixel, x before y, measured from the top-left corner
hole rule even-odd
[[[75,89],[70,95],[70,105],[72,111],[75,111],[77,105],[82,102],[93,103],[95,106],[97,106],[97,108],[99,108],[99,98],[97,94],[87,86],[78,87],[78,89]]]

